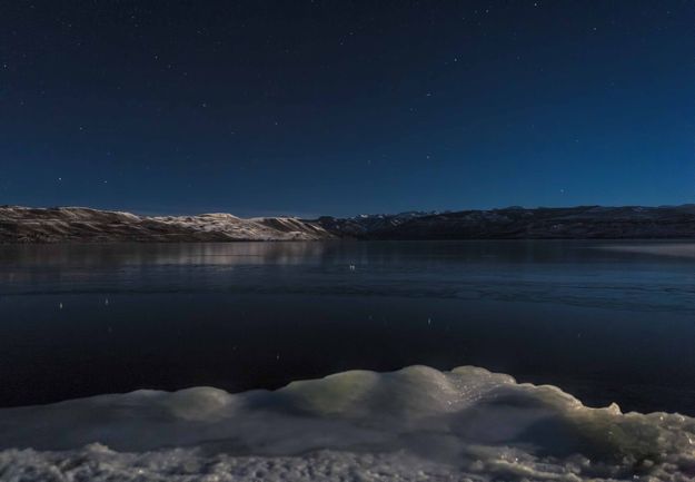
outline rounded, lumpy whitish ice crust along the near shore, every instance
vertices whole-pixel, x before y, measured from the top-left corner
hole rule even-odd
[[[695,420],[465,366],[0,410],[2,481],[695,480]]]

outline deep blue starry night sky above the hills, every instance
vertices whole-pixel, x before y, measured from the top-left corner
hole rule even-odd
[[[0,0],[0,204],[693,201],[693,1]]]

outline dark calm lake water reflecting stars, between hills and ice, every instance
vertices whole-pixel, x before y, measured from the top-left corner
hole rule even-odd
[[[695,245],[0,246],[0,405],[478,365],[695,414]]]

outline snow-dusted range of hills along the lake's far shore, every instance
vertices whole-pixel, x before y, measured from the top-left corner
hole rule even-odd
[[[0,206],[0,243],[689,237],[695,237],[695,205],[507,207],[318,219],[138,216],[82,207]]]

